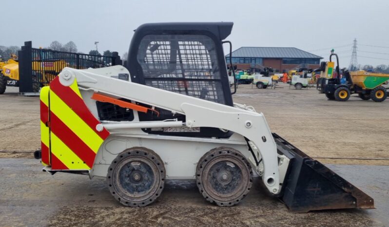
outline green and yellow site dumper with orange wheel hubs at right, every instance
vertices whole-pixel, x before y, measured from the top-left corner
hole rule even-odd
[[[388,88],[382,84],[389,80],[389,74],[340,70],[338,55],[333,52],[331,50],[330,61],[321,62],[320,68],[315,69],[315,72],[320,72],[316,86],[319,93],[336,101],[347,101],[351,94],[358,94],[362,100],[371,99],[374,102],[382,102],[387,98]],[[332,57],[336,57],[336,67]]]

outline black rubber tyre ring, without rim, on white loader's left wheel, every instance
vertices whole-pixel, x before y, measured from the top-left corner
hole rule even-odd
[[[147,158],[149,161],[153,162],[155,164],[155,167],[157,168],[159,172],[159,181],[158,181],[158,187],[155,191],[155,193],[152,196],[149,196],[149,198],[146,198],[142,201],[130,201],[125,199],[124,197],[120,196],[119,193],[117,193],[117,189],[114,186],[114,171],[115,168],[119,165],[121,161],[128,160],[128,158],[131,157],[144,157]],[[112,161],[108,173],[107,173],[107,186],[110,190],[111,194],[119,201],[122,205],[127,207],[145,207],[154,201],[156,201],[156,198],[158,198],[163,189],[164,189],[164,183],[165,183],[165,177],[166,177],[166,171],[165,166],[156,152],[144,148],[144,147],[134,147],[127,149],[117,155],[117,157]]]

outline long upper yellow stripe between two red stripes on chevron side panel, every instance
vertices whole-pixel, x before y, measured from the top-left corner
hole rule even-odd
[[[103,139],[93,131],[53,91],[50,91],[50,110],[90,148],[97,153]]]

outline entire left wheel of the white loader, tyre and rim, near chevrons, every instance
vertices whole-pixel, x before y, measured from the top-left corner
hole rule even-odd
[[[144,207],[159,197],[165,180],[165,167],[152,150],[135,147],[121,152],[110,165],[107,186],[127,207]]]

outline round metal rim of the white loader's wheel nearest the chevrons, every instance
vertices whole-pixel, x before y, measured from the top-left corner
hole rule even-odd
[[[156,165],[141,156],[122,160],[115,168],[113,177],[119,196],[133,202],[143,201],[155,194],[160,180]]]

